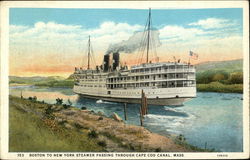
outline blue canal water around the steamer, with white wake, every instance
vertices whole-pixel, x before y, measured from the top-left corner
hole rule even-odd
[[[38,100],[54,104],[56,98],[68,99],[75,107],[87,107],[106,116],[113,112],[124,118],[121,103],[80,98],[69,88],[39,88],[34,86],[10,87],[10,94],[25,98],[36,96]],[[243,94],[198,92],[194,98],[181,107],[149,106],[144,126],[161,135],[182,134],[189,144],[223,152],[243,150]],[[127,105],[126,123],[140,125],[139,105]]]

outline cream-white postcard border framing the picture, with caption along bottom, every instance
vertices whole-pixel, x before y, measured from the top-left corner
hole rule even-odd
[[[130,9],[195,9],[195,8],[243,8],[243,64],[244,64],[244,95],[243,95],[243,152],[212,152],[201,153],[183,152],[184,157],[157,157],[159,153],[145,153],[146,157],[30,157],[30,154],[67,154],[70,152],[8,152],[8,42],[9,42],[9,8],[130,8]],[[155,154],[154,159],[241,159],[249,157],[249,7],[247,1],[5,1],[1,2],[1,159],[152,159],[150,154]],[[105,152],[106,153],[106,152]],[[122,152],[124,154],[142,154]],[[24,154],[24,157],[18,157]],[[72,154],[79,154],[73,152]],[[176,154],[180,154],[177,152]]]

